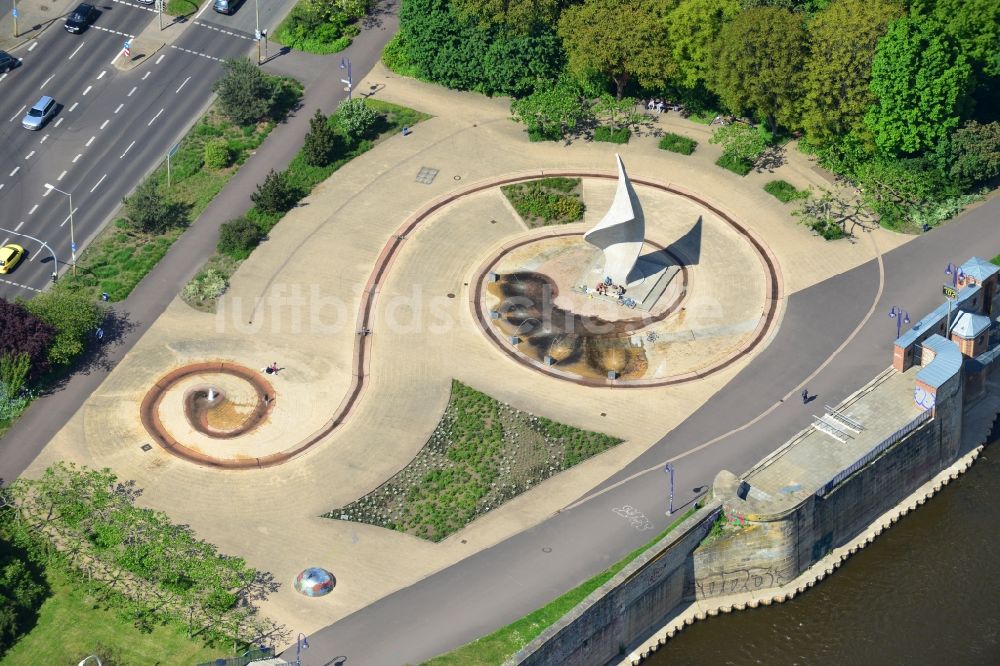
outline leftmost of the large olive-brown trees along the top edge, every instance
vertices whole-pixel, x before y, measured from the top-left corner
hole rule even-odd
[[[565,9],[559,36],[577,79],[611,79],[615,97],[634,77],[646,87],[666,83],[671,71],[665,17],[669,0],[584,0]]]

